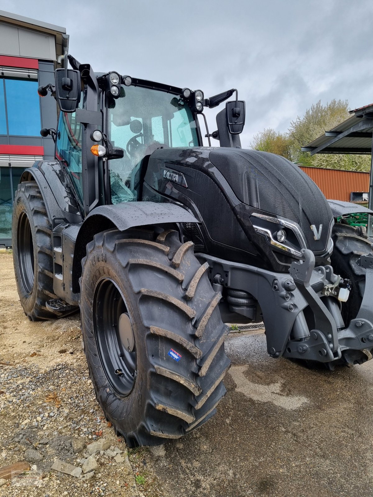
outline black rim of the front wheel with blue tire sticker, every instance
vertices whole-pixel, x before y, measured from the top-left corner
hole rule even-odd
[[[122,316],[124,315],[124,316]],[[128,341],[119,332],[119,319],[130,323],[122,293],[110,279],[101,280],[93,298],[93,328],[104,374],[120,396],[132,391],[136,378],[136,343],[128,350]],[[131,333],[132,326],[130,325]],[[133,335],[132,335],[133,336]],[[130,347],[131,348],[131,347]]]

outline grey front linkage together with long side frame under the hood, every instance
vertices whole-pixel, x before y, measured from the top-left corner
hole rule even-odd
[[[334,274],[330,265],[315,267],[311,250],[302,250],[303,260],[292,262],[290,274],[196,255],[208,262],[212,279],[223,274],[226,286],[258,301],[272,357],[323,362],[331,369],[338,363],[361,364],[372,358],[373,255],[359,259],[366,268],[365,293],[347,328],[340,302],[349,297],[350,280]]]

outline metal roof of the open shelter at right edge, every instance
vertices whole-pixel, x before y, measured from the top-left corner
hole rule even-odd
[[[351,117],[302,147],[313,154],[372,154],[373,104],[350,111]]]

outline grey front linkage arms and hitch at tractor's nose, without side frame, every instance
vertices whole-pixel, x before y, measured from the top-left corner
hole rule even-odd
[[[304,314],[300,311],[293,327],[293,335],[294,332],[299,334],[288,340],[283,355],[325,362],[332,367],[340,359],[351,365],[372,359],[373,255],[362,255],[359,259],[360,266],[367,270],[365,292],[358,315],[347,328],[337,298],[339,296],[343,301],[348,297],[349,282],[335,275],[331,266],[315,268],[311,250],[304,250],[303,257],[304,260],[291,264],[289,272],[313,312],[314,329],[308,331]],[[322,300],[322,297],[326,298]]]

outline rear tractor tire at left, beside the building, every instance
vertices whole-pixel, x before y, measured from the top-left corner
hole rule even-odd
[[[55,319],[46,302],[53,293],[52,227],[36,181],[18,185],[14,196],[12,250],[19,300],[31,321]]]

